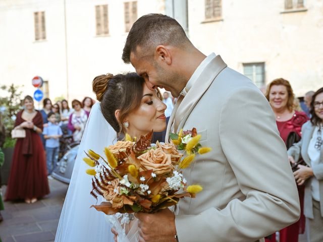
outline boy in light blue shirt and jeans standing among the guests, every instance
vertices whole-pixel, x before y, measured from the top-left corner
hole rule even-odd
[[[44,127],[43,135],[46,140],[46,163],[47,163],[47,174],[49,179],[51,178],[50,174],[56,168],[59,157],[60,149],[60,138],[63,133],[61,127],[57,123],[57,117],[55,113],[49,112],[48,116],[48,126]]]

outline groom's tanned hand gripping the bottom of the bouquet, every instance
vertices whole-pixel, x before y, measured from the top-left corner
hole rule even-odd
[[[156,213],[136,213],[139,219],[139,242],[176,242],[175,215],[168,208]]]

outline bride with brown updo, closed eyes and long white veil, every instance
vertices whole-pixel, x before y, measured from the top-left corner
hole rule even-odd
[[[85,173],[84,151],[92,149],[103,156],[104,147],[125,133],[140,137],[166,129],[166,105],[159,91],[150,90],[136,73],[97,76],[92,87],[100,103],[93,105],[86,124],[55,242],[114,241],[105,215],[90,208],[102,198],[96,201],[90,196],[91,176]]]

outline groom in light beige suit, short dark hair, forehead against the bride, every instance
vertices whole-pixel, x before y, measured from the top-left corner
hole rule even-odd
[[[168,132],[195,127],[212,151],[184,170],[196,198],[137,213],[139,241],[263,241],[298,220],[299,200],[273,111],[263,94],[220,55],[205,56],[179,23],[149,14],[132,26],[122,59],[150,89],[179,99]],[[167,138],[168,139],[168,138]]]

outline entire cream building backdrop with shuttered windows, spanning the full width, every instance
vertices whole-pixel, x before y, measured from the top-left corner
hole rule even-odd
[[[94,97],[95,76],[134,70],[122,49],[147,13],[175,17],[258,86],[283,77],[298,96],[323,86],[321,0],[0,0],[0,83],[32,94],[40,76],[51,99]]]

